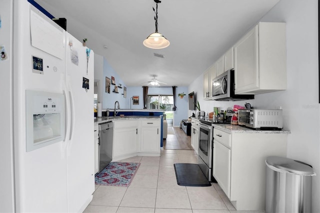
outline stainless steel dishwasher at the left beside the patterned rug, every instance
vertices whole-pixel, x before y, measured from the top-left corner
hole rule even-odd
[[[113,122],[99,123],[99,172],[112,160]]]

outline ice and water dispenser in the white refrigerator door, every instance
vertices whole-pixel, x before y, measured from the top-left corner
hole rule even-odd
[[[26,151],[64,140],[64,94],[26,90]]]

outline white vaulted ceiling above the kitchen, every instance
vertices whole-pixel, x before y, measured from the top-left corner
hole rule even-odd
[[[123,84],[141,86],[155,74],[166,85],[187,86],[279,0],[162,0],[158,31],[170,41],[164,49],[142,44],[155,29],[153,0],[35,1],[65,17],[67,31],[87,38]]]

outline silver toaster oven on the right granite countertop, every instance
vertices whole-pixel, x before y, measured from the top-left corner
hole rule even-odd
[[[282,109],[239,109],[238,124],[257,130],[280,130]]]

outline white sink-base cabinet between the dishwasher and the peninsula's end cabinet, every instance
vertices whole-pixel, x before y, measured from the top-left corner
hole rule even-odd
[[[138,136],[137,120],[115,120],[113,122],[112,160],[136,153]]]

